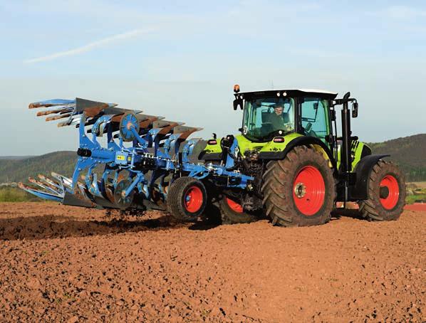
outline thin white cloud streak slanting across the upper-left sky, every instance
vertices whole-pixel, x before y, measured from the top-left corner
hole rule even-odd
[[[58,53],[53,53],[51,55],[41,56],[37,58],[31,58],[28,60],[24,60],[24,63],[38,63],[45,62],[46,60],[54,60],[56,58],[60,58],[63,56],[73,56],[81,53],[85,53],[88,51],[92,51],[95,48],[109,45],[110,43],[114,43],[115,41],[120,41],[123,39],[134,38],[136,36],[140,36],[142,34],[150,33],[153,29],[135,29],[133,31],[128,31],[125,33],[119,33],[118,35],[110,36],[108,38],[103,38],[100,41],[93,41],[92,43],[88,43],[85,46],[81,46],[78,48],[73,48],[68,51],[61,51]]]

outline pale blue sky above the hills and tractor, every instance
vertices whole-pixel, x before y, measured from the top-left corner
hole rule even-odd
[[[425,1],[0,0],[0,155],[76,150],[28,103],[83,97],[237,134],[241,90],[350,91],[353,133],[426,132]]]

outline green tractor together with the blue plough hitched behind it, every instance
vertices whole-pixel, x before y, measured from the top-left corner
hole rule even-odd
[[[199,154],[201,128],[144,115],[115,103],[76,98],[33,102],[53,107],[38,116],[75,125],[78,161],[73,176],[39,175],[21,189],[41,198],[86,208],[143,214],[169,211],[180,221],[213,218],[249,223],[268,217],[276,226],[326,223],[339,204],[356,202],[364,218],[390,221],[405,205],[402,172],[371,154],[350,130],[358,102],[322,90],[240,92],[240,134],[207,141]],[[351,109],[349,105],[351,104]],[[341,106],[341,136],[336,107]],[[106,135],[105,144],[98,137]],[[198,155],[198,156],[197,156]]]

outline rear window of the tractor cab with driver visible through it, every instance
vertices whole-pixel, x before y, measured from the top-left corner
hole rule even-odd
[[[254,139],[268,139],[275,132],[294,131],[294,100],[290,97],[264,97],[246,100],[243,133]],[[279,133],[278,133],[279,134]]]

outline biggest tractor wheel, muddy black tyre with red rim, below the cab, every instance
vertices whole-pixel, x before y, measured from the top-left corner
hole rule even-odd
[[[295,147],[266,168],[261,190],[266,216],[274,225],[316,226],[330,221],[336,185],[323,154]]]

